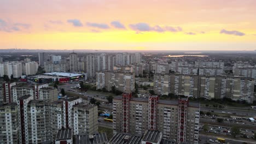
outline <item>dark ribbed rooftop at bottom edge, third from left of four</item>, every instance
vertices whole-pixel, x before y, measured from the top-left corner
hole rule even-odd
[[[130,134],[115,134],[109,142],[118,144],[141,144],[141,140],[141,136]]]

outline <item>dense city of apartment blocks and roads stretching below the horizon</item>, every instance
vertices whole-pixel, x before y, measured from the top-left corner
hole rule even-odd
[[[256,52],[16,53],[1,143],[256,142]]]

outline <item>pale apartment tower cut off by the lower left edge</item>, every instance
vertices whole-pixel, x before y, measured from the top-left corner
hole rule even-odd
[[[18,119],[18,106],[16,103],[0,105],[0,143],[18,143]]]

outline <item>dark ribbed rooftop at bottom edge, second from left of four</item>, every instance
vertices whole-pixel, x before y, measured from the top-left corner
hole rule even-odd
[[[106,133],[93,134],[93,135],[76,135],[75,136],[76,144],[103,144],[103,143],[107,143],[107,142],[108,142],[108,139],[107,139]]]

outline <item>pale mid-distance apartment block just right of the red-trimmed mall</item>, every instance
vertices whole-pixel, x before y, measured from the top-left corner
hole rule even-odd
[[[135,74],[111,71],[98,71],[96,73],[97,89],[112,90],[112,86],[121,92],[133,92],[135,89]]]

